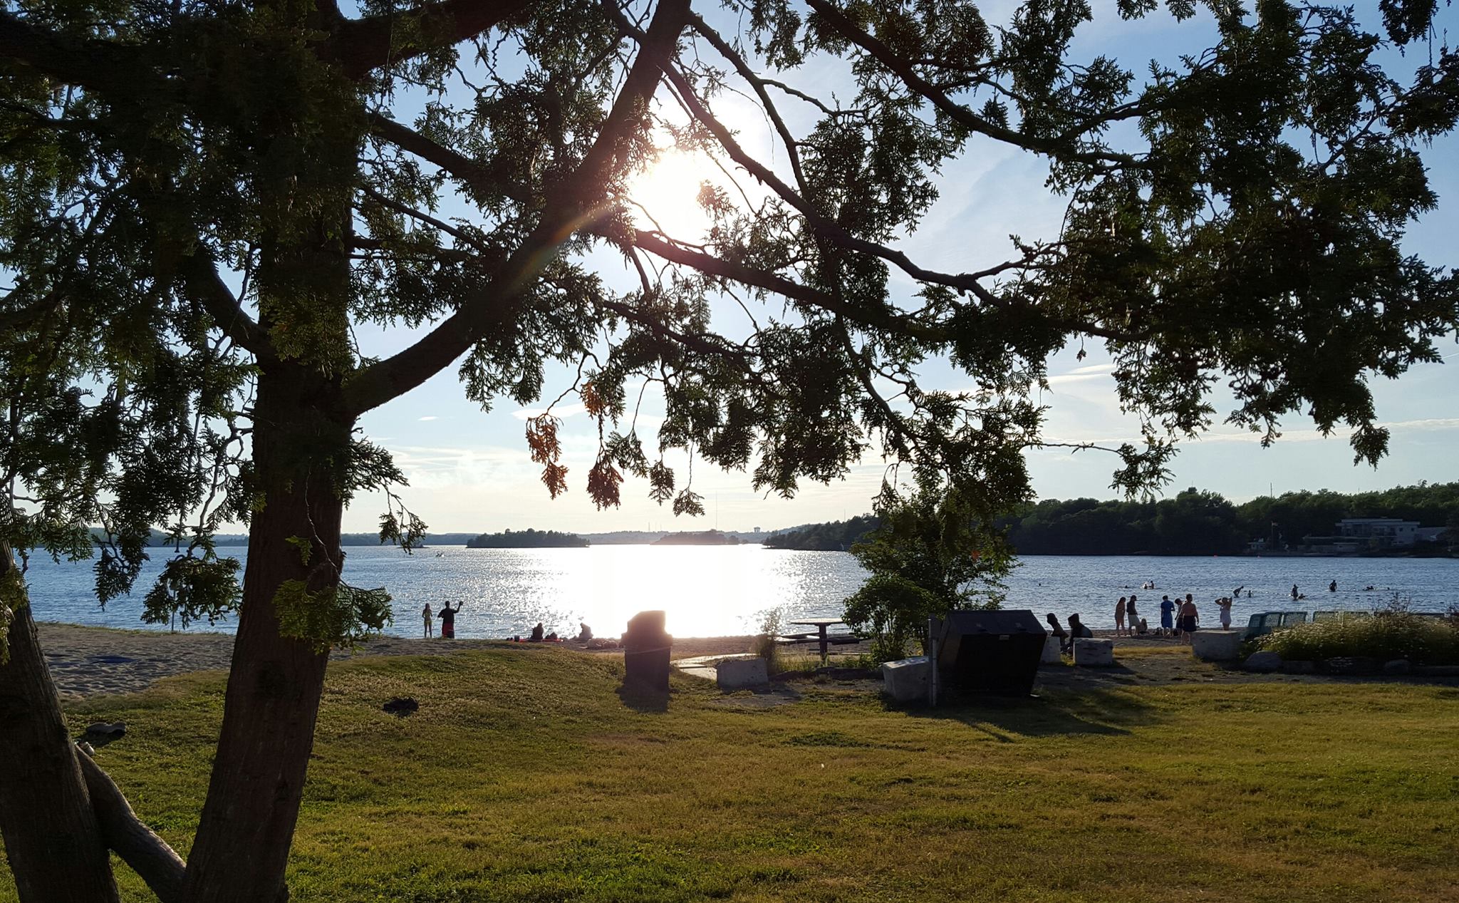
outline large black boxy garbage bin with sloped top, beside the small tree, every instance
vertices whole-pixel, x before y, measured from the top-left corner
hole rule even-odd
[[[938,643],[938,675],[948,690],[1029,696],[1046,636],[1029,610],[948,611]]]

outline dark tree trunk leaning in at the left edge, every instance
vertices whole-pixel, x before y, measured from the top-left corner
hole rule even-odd
[[[0,833],[22,903],[117,900],[111,856],[66,731],[9,543],[0,541],[0,605],[9,662],[0,665]]]

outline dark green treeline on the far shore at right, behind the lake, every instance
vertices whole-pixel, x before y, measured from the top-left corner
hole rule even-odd
[[[1383,492],[1288,492],[1233,505],[1188,489],[1156,502],[1048,499],[1002,521],[1018,554],[1236,554],[1252,540],[1297,546],[1332,535],[1344,518],[1402,518],[1447,527],[1459,537],[1459,483],[1420,483]],[[872,515],[811,524],[769,537],[770,549],[851,549],[877,527]]]

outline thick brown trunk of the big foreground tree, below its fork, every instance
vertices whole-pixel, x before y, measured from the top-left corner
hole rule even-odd
[[[287,899],[285,867],[328,654],[282,636],[274,601],[287,581],[311,592],[338,584],[338,480],[352,426],[337,379],[289,362],[260,373],[252,438],[264,505],[248,531],[223,728],[184,880],[190,903]],[[308,563],[292,537],[308,540]]]

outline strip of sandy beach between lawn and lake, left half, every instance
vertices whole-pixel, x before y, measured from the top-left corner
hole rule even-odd
[[[229,633],[162,633],[112,630],[79,624],[39,623],[36,630],[45,662],[63,699],[98,693],[136,693],[153,681],[190,671],[226,671],[233,655]],[[451,655],[500,645],[484,639],[403,639],[385,636],[353,651],[336,649],[331,659],[356,655]],[[579,643],[563,643],[582,649]],[[674,640],[674,656],[728,655],[750,648],[748,636],[711,636]],[[605,649],[604,654],[614,654]]]

